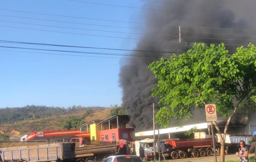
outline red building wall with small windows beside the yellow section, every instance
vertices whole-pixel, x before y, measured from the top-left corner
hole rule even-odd
[[[100,140],[105,143],[110,143],[112,141],[118,141],[119,139],[126,139],[128,141],[133,141],[131,137],[131,132],[133,133],[134,129],[132,128],[116,128],[109,129],[104,131],[99,131]],[[115,139],[113,139],[113,134],[115,134]],[[106,139],[107,135],[107,139]]]

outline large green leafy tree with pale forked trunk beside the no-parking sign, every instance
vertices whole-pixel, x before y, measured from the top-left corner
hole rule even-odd
[[[156,114],[156,122],[167,127],[170,119],[176,118],[179,125],[192,118],[193,110],[216,104],[217,112],[228,117],[223,137],[214,122],[221,137],[221,161],[224,162],[224,142],[231,118],[241,108],[256,110],[255,56],[253,44],[229,54],[223,43],[217,46],[195,43],[187,53],[151,63],[149,68],[158,78],[152,96],[160,96],[159,104],[164,105]]]

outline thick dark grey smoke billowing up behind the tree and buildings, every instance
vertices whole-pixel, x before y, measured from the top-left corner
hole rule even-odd
[[[255,44],[256,2],[254,0],[161,0],[148,1],[140,20],[147,30],[137,43],[135,50],[185,52],[193,42],[221,43],[234,51],[238,46],[249,42]],[[179,27],[181,26],[181,43]],[[243,30],[235,30],[243,29]],[[159,41],[156,41],[159,40]],[[147,57],[131,59],[120,71],[120,86],[123,89],[123,108],[131,115],[130,125],[136,131],[152,128],[153,102],[151,88],[157,80],[148,69],[149,63],[158,60],[152,56],[170,56],[160,52],[133,52]],[[135,58],[135,57],[134,57]],[[137,58],[137,57],[136,57]],[[156,111],[160,106],[155,104]],[[201,110],[202,111],[202,110]],[[194,120],[204,120],[199,112]],[[196,122],[196,121],[195,121]]]

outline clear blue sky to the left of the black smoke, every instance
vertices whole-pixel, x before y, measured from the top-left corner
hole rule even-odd
[[[139,16],[141,9],[138,8],[143,7],[145,2],[142,0],[0,1],[0,40],[134,49],[136,39],[111,37],[138,38],[139,35],[92,30],[134,32],[130,27],[136,24],[113,21],[141,22]],[[0,108],[26,105],[54,107],[121,105],[122,92],[118,83],[118,74],[120,66],[125,63],[127,57],[18,48],[118,54],[129,54],[129,52],[6,42],[0,42],[0,46],[15,47],[0,47]]]

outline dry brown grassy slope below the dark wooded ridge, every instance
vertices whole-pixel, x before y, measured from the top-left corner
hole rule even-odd
[[[52,130],[63,130],[62,123],[67,120],[70,116],[81,117],[86,113],[86,109],[77,109],[75,113],[39,118],[39,119],[30,119],[14,122],[13,124],[1,124],[0,131],[11,131],[16,130],[20,132],[19,137],[30,134],[35,131],[52,131]],[[90,120],[96,119],[107,119],[110,117],[111,108],[91,108],[93,113],[84,118],[84,123],[89,122]]]

